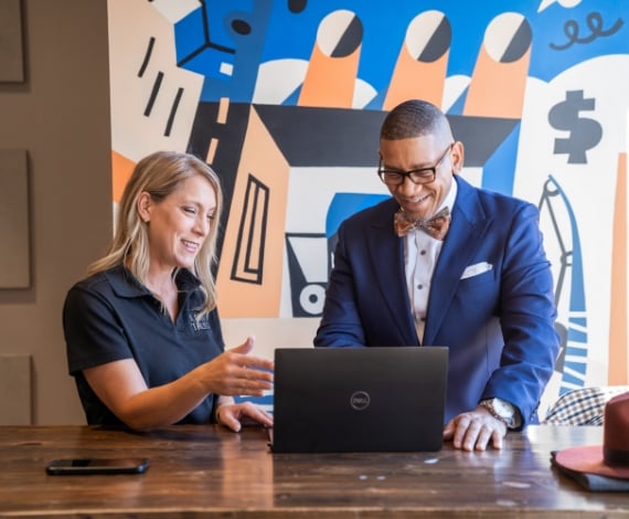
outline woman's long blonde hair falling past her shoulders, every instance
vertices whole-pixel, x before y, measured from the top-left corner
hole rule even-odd
[[[149,240],[146,224],[138,213],[138,198],[142,192],[147,192],[152,200],[160,202],[173,193],[183,181],[194,176],[207,179],[216,195],[216,210],[210,223],[210,233],[191,269],[201,282],[201,289],[205,295],[205,304],[201,308],[199,318],[213,310],[216,307],[216,286],[212,267],[216,262],[216,239],[223,208],[223,192],[214,170],[190,153],[157,151],[136,165],[120,199],[114,239],[105,256],[88,266],[87,275],[125,265],[146,285],[149,269]]]

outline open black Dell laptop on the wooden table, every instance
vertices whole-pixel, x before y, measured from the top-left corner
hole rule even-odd
[[[274,453],[443,447],[446,347],[277,348]]]

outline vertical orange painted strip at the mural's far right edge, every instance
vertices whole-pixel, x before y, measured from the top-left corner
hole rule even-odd
[[[611,300],[607,383],[629,383],[627,352],[627,153],[618,158],[611,246]]]

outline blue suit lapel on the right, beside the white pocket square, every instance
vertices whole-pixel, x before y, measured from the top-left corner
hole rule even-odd
[[[486,215],[475,188],[459,177],[455,179],[458,183],[457,200],[450,229],[433,274],[424,345],[435,341],[460,277],[475,256],[492,220]]]

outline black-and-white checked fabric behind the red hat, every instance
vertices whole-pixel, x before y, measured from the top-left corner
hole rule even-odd
[[[629,391],[629,385],[583,388],[564,393],[543,420],[544,424],[603,425],[605,404],[617,394]]]

